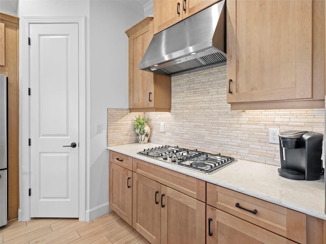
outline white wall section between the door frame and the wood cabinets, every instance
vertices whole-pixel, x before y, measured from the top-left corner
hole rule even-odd
[[[144,18],[144,9],[134,1],[92,0],[90,15],[89,219],[94,219],[108,210],[107,108],[128,108],[128,38],[124,32]],[[102,133],[95,133],[96,124],[103,126]]]

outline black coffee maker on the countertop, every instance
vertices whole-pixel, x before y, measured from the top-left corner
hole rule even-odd
[[[285,131],[279,134],[281,168],[279,174],[289,179],[317,180],[323,172],[321,133]]]

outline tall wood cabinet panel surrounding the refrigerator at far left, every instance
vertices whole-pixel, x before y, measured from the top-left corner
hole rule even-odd
[[[0,13],[0,74],[8,77],[8,220],[19,207],[19,18]]]

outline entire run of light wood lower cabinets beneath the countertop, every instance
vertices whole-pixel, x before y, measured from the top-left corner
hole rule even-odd
[[[321,244],[326,221],[110,151],[110,207],[150,243]]]

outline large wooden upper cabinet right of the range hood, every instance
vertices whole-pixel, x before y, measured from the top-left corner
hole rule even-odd
[[[231,109],[323,108],[325,1],[227,2]]]

